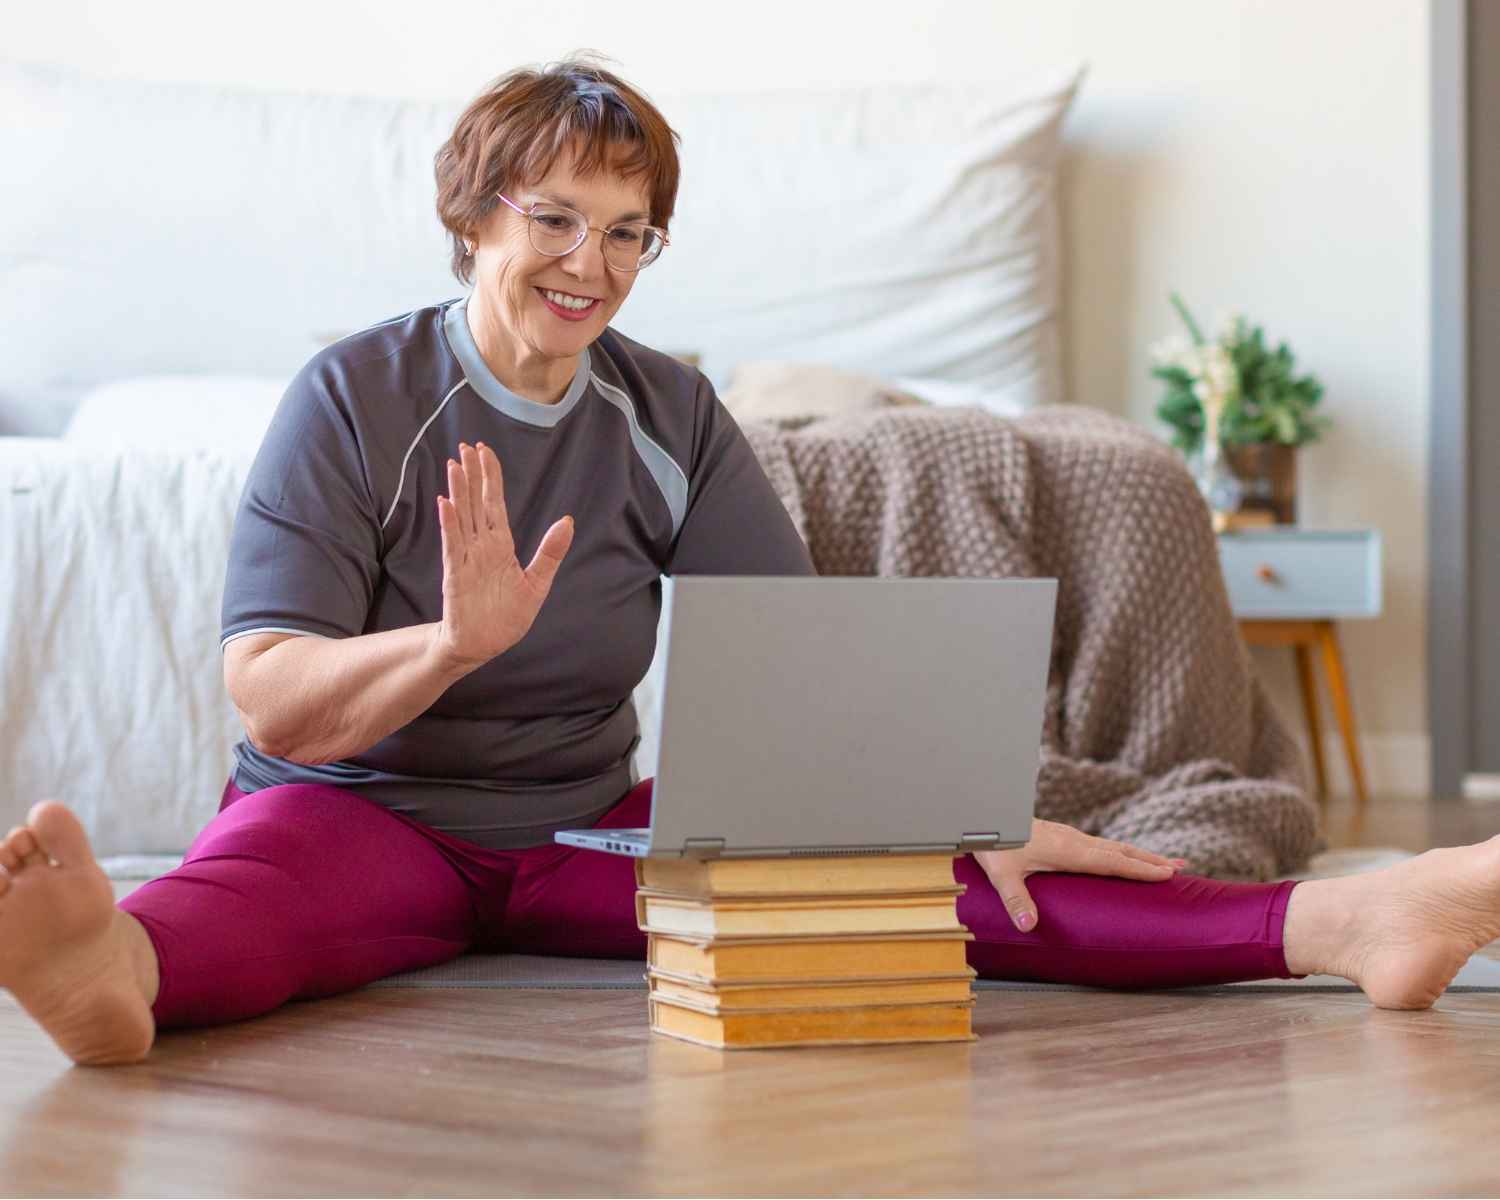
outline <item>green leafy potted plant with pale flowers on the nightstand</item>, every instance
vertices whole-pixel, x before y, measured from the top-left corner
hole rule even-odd
[[[1316,441],[1328,418],[1316,410],[1323,384],[1298,375],[1287,344],[1266,344],[1260,326],[1232,316],[1212,342],[1182,297],[1172,294],[1188,338],[1152,346],[1150,374],[1167,386],[1156,416],[1216,513],[1264,512],[1296,522],[1296,448]]]

